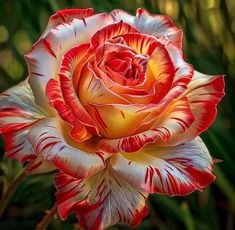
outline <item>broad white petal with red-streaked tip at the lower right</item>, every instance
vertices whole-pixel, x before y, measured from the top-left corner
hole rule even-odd
[[[199,137],[174,147],[152,144],[135,154],[114,155],[110,164],[125,180],[149,193],[187,195],[215,180],[212,158]]]

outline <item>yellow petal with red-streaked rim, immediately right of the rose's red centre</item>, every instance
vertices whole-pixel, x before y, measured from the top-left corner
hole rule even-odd
[[[126,43],[137,53],[148,56],[145,88],[156,82],[156,96],[153,101],[159,102],[172,87],[175,77],[175,66],[165,45],[156,38],[143,34],[124,35]]]

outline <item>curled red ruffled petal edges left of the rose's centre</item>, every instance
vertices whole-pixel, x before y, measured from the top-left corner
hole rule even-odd
[[[87,140],[93,133],[98,132],[93,120],[81,105],[73,86],[77,63],[88,51],[89,44],[70,49],[62,60],[58,73],[59,81],[50,79],[45,90],[51,105],[60,117],[72,126],[70,134],[78,141]]]

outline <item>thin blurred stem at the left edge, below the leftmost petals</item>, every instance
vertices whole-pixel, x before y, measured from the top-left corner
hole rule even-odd
[[[16,177],[13,179],[13,181],[10,183],[8,188],[6,189],[5,193],[3,194],[1,200],[0,200],[0,219],[2,217],[2,214],[5,212],[5,209],[8,205],[9,200],[11,199],[12,195],[14,194],[17,186],[23,181],[25,178],[25,172],[24,170],[20,171]]]

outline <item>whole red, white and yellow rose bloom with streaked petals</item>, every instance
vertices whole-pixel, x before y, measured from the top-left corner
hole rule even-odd
[[[57,169],[57,209],[84,229],[140,224],[150,193],[188,195],[215,180],[198,136],[223,76],[194,71],[182,31],[138,9],[54,14],[25,55],[29,77],[0,96],[6,155],[26,173]]]

